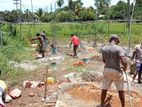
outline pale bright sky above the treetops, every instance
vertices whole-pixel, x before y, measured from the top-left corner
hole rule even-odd
[[[51,3],[55,4],[57,0],[21,0],[22,1],[22,10],[32,10],[31,9],[31,1],[33,2],[33,10],[36,11],[38,8],[43,8],[46,11],[51,10]],[[67,5],[68,0],[64,0],[64,4]],[[94,7],[94,2],[95,0],[81,0],[83,2],[83,6],[89,7],[93,6]],[[119,0],[111,0],[111,5],[114,5],[118,2]],[[126,0],[123,0],[126,1]],[[16,9],[16,5],[14,4],[14,0],[0,0],[0,11],[5,11],[5,10],[13,10]],[[20,6],[18,6],[20,8]],[[53,6],[55,8],[55,5]],[[56,7],[57,8],[57,7]]]

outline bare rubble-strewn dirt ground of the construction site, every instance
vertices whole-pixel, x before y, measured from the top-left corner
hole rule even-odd
[[[44,82],[47,65],[49,65],[48,77],[53,77],[55,81],[47,84],[46,95],[45,84],[25,88],[21,82],[11,87],[10,90],[18,88],[22,93],[19,98],[6,103],[6,107],[101,107],[99,105],[104,63],[99,50],[102,45],[92,46],[93,42],[84,42],[83,47],[79,48],[78,58],[73,58],[72,48],[66,44],[59,44],[57,54],[52,55],[48,51],[45,58],[27,61],[30,67],[36,67],[34,70],[26,71],[29,75],[21,77],[23,82],[24,80]],[[130,65],[129,58],[128,62]],[[126,107],[130,107],[129,98],[132,107],[142,107],[141,85],[131,84],[132,76],[129,75],[129,71],[128,67],[130,96],[125,81]],[[121,107],[114,84],[108,91],[105,107]]]

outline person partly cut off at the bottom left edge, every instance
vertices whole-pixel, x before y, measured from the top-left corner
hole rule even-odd
[[[5,96],[7,91],[7,85],[4,81],[0,80],[0,107],[5,107]]]

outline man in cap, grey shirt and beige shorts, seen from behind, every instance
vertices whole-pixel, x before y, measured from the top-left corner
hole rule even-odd
[[[120,42],[117,35],[111,35],[109,44],[102,48],[103,62],[105,63],[102,82],[101,93],[101,106],[104,107],[107,90],[110,88],[111,83],[114,82],[119,93],[121,107],[125,107],[124,97],[124,77],[123,71],[127,69],[127,63],[124,56],[123,49],[118,46]],[[120,66],[122,65],[122,67]]]

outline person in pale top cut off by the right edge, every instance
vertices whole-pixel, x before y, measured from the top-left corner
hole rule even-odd
[[[132,83],[134,82],[137,74],[138,74],[138,83],[141,83],[141,74],[142,74],[142,43],[135,46],[132,60],[135,63],[135,72],[133,75]]]

